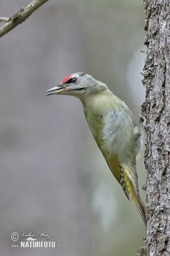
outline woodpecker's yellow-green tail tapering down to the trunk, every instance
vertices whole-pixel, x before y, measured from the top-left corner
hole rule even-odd
[[[128,175],[125,172],[123,172],[123,176],[125,188],[128,191],[129,195],[131,196],[133,202],[135,203],[146,227],[146,207],[144,205],[144,202],[142,201],[142,198],[139,195],[138,188],[137,186],[134,186],[132,184],[131,180],[129,179]]]

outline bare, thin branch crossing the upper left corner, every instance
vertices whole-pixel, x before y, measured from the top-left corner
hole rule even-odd
[[[37,10],[42,4],[46,3],[48,0],[34,0],[31,4],[20,9],[20,11],[14,13],[9,19],[1,18],[4,22],[7,22],[3,27],[0,28],[0,37],[4,36],[6,33],[11,31],[13,28],[18,26],[20,23],[25,21],[35,10]],[[8,21],[5,21],[7,20]]]

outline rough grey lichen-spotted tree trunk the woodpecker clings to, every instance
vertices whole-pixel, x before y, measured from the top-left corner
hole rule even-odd
[[[148,127],[145,150],[147,235],[139,255],[170,255],[170,1],[145,0],[143,72]]]

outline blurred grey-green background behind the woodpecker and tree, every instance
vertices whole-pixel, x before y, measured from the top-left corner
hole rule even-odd
[[[27,4],[2,0],[0,17]],[[0,39],[1,255],[128,256],[144,246],[143,220],[110,172],[81,102],[44,93],[86,72],[138,120],[143,42],[142,0],[49,0]],[[31,231],[51,234],[61,248],[11,248],[12,232]]]

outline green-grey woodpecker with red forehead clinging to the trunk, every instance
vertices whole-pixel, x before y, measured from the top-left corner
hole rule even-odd
[[[47,95],[72,95],[81,100],[92,135],[108,167],[140,212],[146,226],[146,208],[139,195],[136,157],[142,148],[143,131],[126,104],[107,85],[78,72],[46,91]]]

